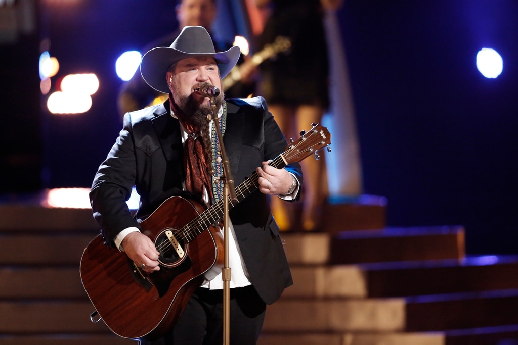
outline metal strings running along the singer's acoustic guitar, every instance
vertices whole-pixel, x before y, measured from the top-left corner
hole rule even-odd
[[[283,159],[283,157],[289,157],[289,153],[291,153],[292,151],[295,151],[299,147],[299,145],[301,145],[302,143],[306,143],[306,141],[314,133],[317,133],[317,131],[312,129],[310,132],[307,133],[309,135],[308,135],[308,137],[305,138],[305,140],[300,140],[295,145],[292,144],[289,147],[289,149],[287,149],[283,154],[281,154],[281,155],[277,156],[276,158],[274,158],[273,160],[271,160],[268,163],[268,165],[278,168],[282,164],[282,167],[284,167],[286,165],[284,163],[284,159],[286,159],[286,158]],[[304,151],[308,151],[310,149],[311,149],[311,147],[308,147]],[[301,153],[303,153],[303,152],[301,152]],[[290,159],[286,159],[286,160],[290,160]],[[250,193],[255,191],[255,189],[258,188],[258,185],[256,184],[256,182],[258,181],[258,177],[259,177],[259,175],[257,174],[257,172],[254,172],[252,174],[252,176],[247,178],[243,183],[241,183],[238,187],[236,187],[236,194],[239,194],[239,196],[242,197],[243,189],[246,189]],[[250,190],[249,187],[252,185],[255,188],[253,190]],[[238,203],[240,201],[241,200],[239,200],[239,198],[238,198]],[[224,211],[223,203],[224,203],[224,200],[222,200],[222,199],[217,201],[211,207],[207,208],[204,212],[199,214],[198,217],[196,217],[194,220],[185,224],[185,226],[182,229],[180,229],[180,231],[177,233],[179,235],[177,237],[177,241],[180,242],[181,240],[185,240],[186,242],[189,243],[197,235],[199,235],[200,233],[202,233],[203,231],[208,229],[215,222],[219,221],[221,219],[221,216],[219,216],[219,215],[221,215],[221,212]],[[231,205],[231,208],[234,207],[234,204],[232,203],[232,200],[230,200],[230,199],[229,199],[229,205]],[[202,219],[202,220],[205,219],[205,220],[200,222],[199,219]],[[199,231],[200,228],[203,228],[203,229],[201,231]],[[196,229],[198,229],[198,231],[196,231]],[[166,239],[165,241],[163,241],[161,244],[159,244],[157,246],[157,250],[160,253],[164,254],[164,253],[168,252],[169,249],[172,249],[172,247],[173,247],[172,243],[168,239]]]

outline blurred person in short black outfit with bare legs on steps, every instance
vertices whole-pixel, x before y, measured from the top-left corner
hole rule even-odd
[[[323,17],[326,9],[337,9],[342,2],[256,0],[257,8],[266,12],[267,18],[264,31],[258,37],[258,45],[274,42],[279,36],[291,40],[289,54],[280,54],[261,65],[258,82],[258,93],[268,101],[270,112],[288,138],[298,138],[301,129],[312,123],[321,123],[329,106],[329,68]],[[325,162],[317,162],[310,157],[301,162],[301,166],[306,177],[301,217],[297,217],[293,205],[272,200],[274,216],[283,231],[322,230],[319,223],[328,193]],[[297,218],[300,224],[295,221]]]

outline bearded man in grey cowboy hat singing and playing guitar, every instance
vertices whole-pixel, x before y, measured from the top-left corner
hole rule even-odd
[[[280,169],[269,164],[287,142],[263,98],[224,100],[223,92],[213,97],[204,92],[207,85],[212,91],[221,89],[221,78],[238,57],[237,47],[215,52],[201,26],[185,27],[170,47],[148,51],[140,65],[142,77],[169,99],[124,116],[124,127],[99,167],[90,199],[109,245],[124,251],[147,273],[167,272],[164,253],[157,250],[154,238],[140,232],[140,220],[152,218],[172,196],[208,207],[221,200],[224,182],[213,179],[223,174],[217,126],[210,119],[215,104],[235,186],[254,182],[239,190],[246,198],[229,213],[229,339],[244,345],[255,344],[266,304],[274,303],[293,283],[269,198],[297,200],[302,174],[296,162]],[[125,203],[134,185],[140,194],[135,217]],[[178,321],[160,339],[148,342],[143,337],[142,344],[222,342],[221,271],[204,273],[195,288]]]

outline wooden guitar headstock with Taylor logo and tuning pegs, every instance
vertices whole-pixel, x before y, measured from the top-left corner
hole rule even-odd
[[[320,124],[312,124],[311,126],[310,130],[300,132],[298,142],[291,140],[291,145],[286,147],[286,151],[281,154],[286,164],[299,162],[310,155],[315,155],[315,158],[318,159],[319,156],[316,152],[326,146],[327,151],[331,151],[329,147],[331,133]]]

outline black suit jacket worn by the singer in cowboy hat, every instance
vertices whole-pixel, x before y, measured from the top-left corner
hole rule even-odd
[[[235,185],[285,151],[287,142],[261,97],[227,100],[224,145]],[[127,113],[124,127],[95,176],[90,199],[108,243],[128,227],[139,227],[165,199],[182,195],[183,145],[168,101]],[[286,166],[302,183],[298,163]],[[133,186],[140,205],[133,217],[126,201]],[[298,199],[297,196],[296,199]],[[256,190],[232,208],[230,217],[253,286],[271,304],[293,281],[268,197]]]

